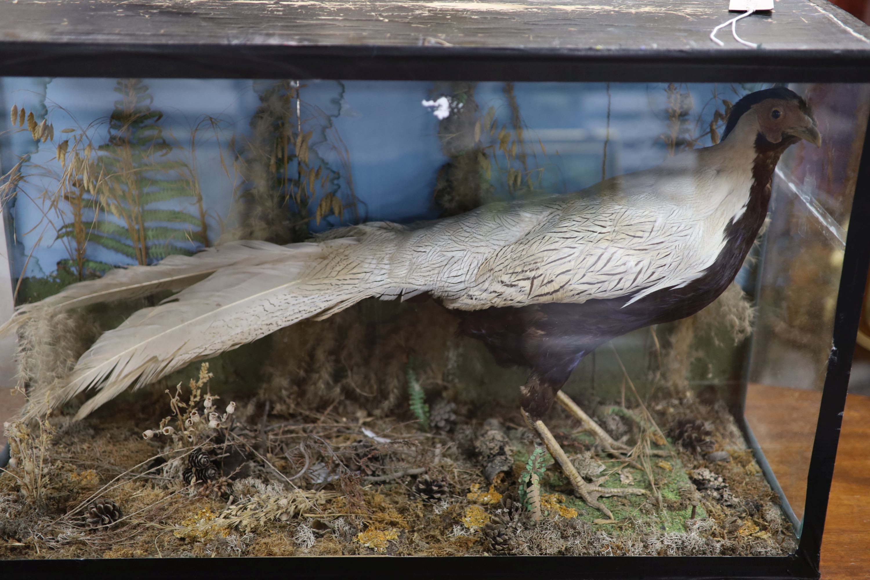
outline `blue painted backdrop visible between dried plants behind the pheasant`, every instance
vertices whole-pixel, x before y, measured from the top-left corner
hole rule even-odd
[[[59,173],[54,160],[55,145],[34,143],[27,131],[10,131],[8,111],[13,104],[33,110],[37,123],[48,115],[57,130],[67,126],[100,123],[110,115],[117,100],[115,79],[78,78],[0,78],[0,174],[9,170],[21,156],[29,156],[23,172],[28,176],[9,204],[14,231],[13,277],[43,277],[56,270],[57,262],[69,257],[56,240],[56,229],[63,223],[43,190],[57,186],[53,175]],[[230,213],[233,190],[239,177],[226,170],[231,164],[228,149],[231,135],[250,132],[250,119],[259,104],[258,90],[263,82],[236,80],[147,79],[154,97],[152,107],[164,113],[164,131],[177,144],[172,156],[189,154],[191,127],[202,116],[221,121],[220,138],[214,133],[197,134],[197,177],[208,211],[211,242],[220,235],[221,222]],[[362,217],[368,220],[411,221],[434,217],[432,189],[438,168],[447,161],[438,138],[438,118],[421,104],[432,98],[432,83],[423,82],[307,82],[302,98],[322,110],[333,130],[346,145],[355,193]],[[480,110],[497,110],[499,126],[510,125],[510,110],[503,94],[503,83],[480,83],[475,100]],[[682,85],[693,97],[693,112],[686,130],[693,135],[706,133],[719,98],[736,101],[751,87],[732,85]],[[545,167],[545,190],[565,193],[580,190],[601,179],[602,152],[609,120],[608,177],[642,170],[660,163],[667,155],[661,138],[668,130],[665,84],[620,83],[609,89],[603,83],[517,83],[515,94],[524,121],[528,147],[546,155],[538,163]],[[437,95],[436,95],[437,97]],[[104,125],[95,130],[95,142],[106,133]],[[57,143],[57,135],[55,138]],[[325,163],[338,168],[334,151],[315,136],[313,149]],[[318,144],[319,143],[319,144]],[[699,146],[709,144],[699,139]],[[222,157],[224,163],[222,163]],[[345,171],[346,173],[346,171]],[[338,190],[348,186],[342,175]],[[190,211],[189,200],[167,203]],[[188,207],[184,207],[188,203]],[[345,220],[350,216],[345,213]],[[312,230],[335,225],[331,218]],[[346,223],[346,222],[345,222]],[[192,243],[191,243],[192,244]],[[191,245],[191,248],[193,245]],[[88,257],[104,263],[124,264],[131,260],[97,244],[88,244]]]

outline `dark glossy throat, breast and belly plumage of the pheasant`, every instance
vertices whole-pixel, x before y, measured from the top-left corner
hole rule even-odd
[[[692,316],[718,298],[740,271],[767,215],[773,170],[796,140],[770,143],[759,137],[746,211],[726,226],[726,245],[713,265],[686,286],[657,290],[627,306],[630,297],[451,310],[460,319],[459,332],[485,343],[499,364],[529,367],[541,383],[558,390],[580,359],[599,345],[651,324]]]

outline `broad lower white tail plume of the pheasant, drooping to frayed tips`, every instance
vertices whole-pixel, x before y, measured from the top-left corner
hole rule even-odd
[[[343,238],[324,245],[334,249],[353,243],[355,239]],[[333,266],[346,263],[346,256],[336,257],[340,251],[324,252],[316,243],[289,248],[284,259],[224,267],[179,292],[172,302],[138,310],[79,358],[70,382],[50,404],[96,388],[97,395],[76,416],[85,417],[131,384],[138,388],[305,318],[344,310],[365,297],[384,294],[389,285],[371,264],[356,270],[342,265],[336,271]]]

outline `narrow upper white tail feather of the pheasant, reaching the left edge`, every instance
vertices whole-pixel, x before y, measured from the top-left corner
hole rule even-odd
[[[209,248],[193,256],[170,256],[156,266],[111,270],[97,280],[72,284],[41,302],[19,307],[10,320],[0,326],[0,337],[17,330],[37,311],[64,311],[89,304],[149,296],[160,290],[181,290],[234,263],[269,263],[294,251],[298,250],[291,246],[243,240]]]

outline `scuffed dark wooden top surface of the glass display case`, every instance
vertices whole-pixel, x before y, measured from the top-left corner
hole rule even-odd
[[[541,50],[752,50],[719,33],[727,0],[17,0],[0,43],[204,43]],[[824,0],[777,0],[739,24],[765,50],[870,50],[867,26]]]

